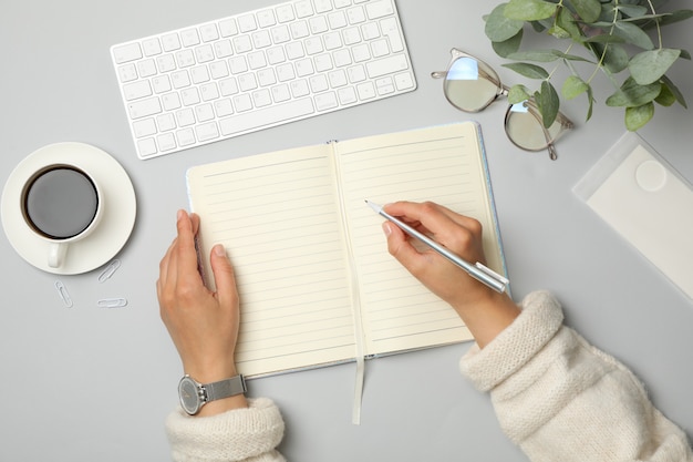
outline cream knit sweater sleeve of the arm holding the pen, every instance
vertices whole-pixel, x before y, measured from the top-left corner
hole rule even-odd
[[[693,461],[685,433],[630,370],[562,325],[551,295],[530,294],[521,307],[461,368],[490,392],[503,430],[532,462]]]

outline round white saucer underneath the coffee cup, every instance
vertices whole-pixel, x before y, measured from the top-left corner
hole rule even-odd
[[[92,234],[70,244],[60,268],[48,265],[49,244],[24,222],[20,207],[22,187],[38,170],[72,164],[93,176],[104,196],[103,216]],[[125,170],[107,153],[84,143],[56,143],[31,153],[17,165],[2,191],[2,227],[14,250],[28,263],[48,273],[76,275],[107,263],[125,245],[135,225],[135,189]]]

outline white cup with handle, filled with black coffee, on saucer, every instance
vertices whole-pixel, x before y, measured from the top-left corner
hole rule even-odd
[[[94,232],[103,215],[103,198],[94,177],[74,165],[42,167],[25,182],[22,216],[27,226],[49,243],[51,268],[64,265],[70,245]]]

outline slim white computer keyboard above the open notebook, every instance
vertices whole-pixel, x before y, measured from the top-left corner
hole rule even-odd
[[[394,0],[294,0],[111,57],[139,158],[416,88]]]

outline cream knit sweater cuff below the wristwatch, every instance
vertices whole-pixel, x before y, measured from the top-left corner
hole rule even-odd
[[[211,417],[189,417],[177,409],[166,420],[176,462],[280,462],[283,437],[279,409],[267,398],[249,399],[247,409]]]

